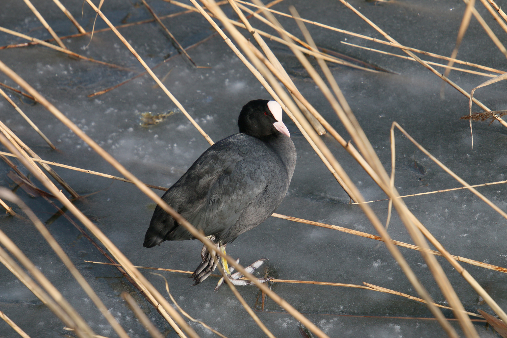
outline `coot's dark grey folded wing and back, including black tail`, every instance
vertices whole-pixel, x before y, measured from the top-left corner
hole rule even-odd
[[[206,236],[231,227],[266,187],[265,155],[270,150],[252,154],[251,148],[243,144],[245,137],[251,136],[231,135],[209,147],[162,196]],[[262,149],[262,142],[259,143]],[[164,240],[191,238],[185,228],[157,206],[143,245],[152,247]]]

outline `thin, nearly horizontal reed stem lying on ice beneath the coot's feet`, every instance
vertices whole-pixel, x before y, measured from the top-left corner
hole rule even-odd
[[[113,266],[116,265],[116,266],[119,266],[119,264],[104,263],[104,262],[92,261],[92,260],[83,260],[83,261],[89,262],[89,263],[93,263],[93,264],[103,264],[103,265],[113,265]],[[167,271],[167,272],[177,272],[177,273],[183,273],[183,274],[189,274],[189,275],[193,273],[192,271],[164,269],[164,268],[153,268],[153,267],[139,267],[139,266],[136,266],[136,268],[138,268],[138,269],[147,269],[147,270]],[[154,273],[152,273],[152,274],[153,275],[159,275],[159,274],[154,274]],[[162,276],[162,275],[159,275],[159,276],[161,276],[161,277],[163,277],[165,279],[164,276]],[[213,276],[213,277],[222,277],[221,275],[215,275],[215,274],[212,274],[210,276]],[[244,278],[244,277],[240,278],[240,279],[247,280],[247,278]],[[391,294],[395,294],[395,295],[399,295],[399,296],[402,296],[402,297],[405,297],[405,298],[412,299],[413,301],[416,301],[416,302],[425,303],[424,299],[422,299],[422,298],[414,297],[414,296],[411,296],[411,295],[403,293],[403,292],[387,289],[387,288],[380,287],[380,286],[373,285],[373,284],[369,284],[369,283],[366,283],[366,282],[363,282],[363,283],[365,285],[367,285],[367,286],[357,285],[357,284],[347,284],[347,283],[301,281],[301,280],[291,280],[291,279],[273,279],[272,282],[273,283],[291,283],[291,284],[311,284],[311,285],[325,285],[325,286],[340,286],[340,287],[350,287],[350,288],[356,288],[356,289],[365,289],[365,290],[371,290],[371,291],[391,293]],[[167,285],[167,281],[166,281],[166,285]],[[171,299],[172,299],[172,297],[171,297]],[[446,306],[443,306],[443,305],[440,305],[440,304],[437,304],[437,303],[433,303],[433,305],[437,306],[439,308],[452,310],[452,308],[450,308],[450,307],[446,307]],[[176,304],[176,306],[179,309],[179,306],[177,304]],[[478,314],[473,313],[473,312],[466,312],[466,314],[469,315],[469,316],[484,318],[483,316],[478,315]]]

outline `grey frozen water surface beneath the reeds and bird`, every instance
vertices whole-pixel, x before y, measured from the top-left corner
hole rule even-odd
[[[62,3],[85,29],[91,29],[94,15],[87,5],[81,17],[80,2],[62,0]],[[76,33],[76,28],[52,3],[37,0],[33,4],[60,36]],[[149,13],[139,4],[106,1],[103,12],[115,25],[122,20],[134,22],[149,19]],[[181,11],[161,1],[151,1],[150,4],[159,15]],[[387,3],[353,0],[351,4],[401,44],[443,55],[451,54],[465,8],[464,3],[457,0]],[[307,19],[381,37],[337,1],[285,0],[274,8],[286,11],[288,5],[296,6]],[[504,35],[486,10],[481,5],[476,7],[500,36],[500,40],[504,40]],[[50,37],[22,2],[5,1],[2,8],[2,26],[39,39]],[[225,10],[231,15],[230,8],[225,7]],[[293,21],[282,17],[279,19],[285,28],[300,36]],[[198,14],[177,16],[164,22],[184,47],[213,33]],[[260,29],[271,31],[255,20],[252,23]],[[105,24],[97,19],[96,29],[104,27]],[[468,100],[464,96],[447,86],[445,99],[440,99],[441,81],[419,64],[356,49],[340,41],[402,54],[398,50],[318,27],[309,26],[309,29],[318,46],[393,72],[373,73],[331,66],[359,123],[386,168],[390,168],[389,128],[396,121],[468,183],[506,179],[507,130],[498,123],[489,126],[487,123],[474,123],[472,148],[468,123],[459,120],[468,111]],[[154,23],[123,28],[121,32],[152,67],[168,56],[176,55],[176,50],[163,31]],[[22,39],[18,37],[0,34],[2,46],[20,42]],[[142,71],[139,63],[112,32],[96,33],[88,48],[89,37],[66,39],[64,43],[85,56],[130,70],[75,60],[40,46],[0,50],[0,59],[142,181],[162,186],[174,183],[208,147],[208,143],[147,76],[106,94],[87,97]],[[303,95],[347,139],[343,126],[296,58],[285,47],[274,42],[269,44]],[[267,92],[216,35],[189,50],[189,54],[198,65],[210,68],[194,68],[184,57],[175,56],[158,67],[156,74],[163,78],[170,71],[165,80],[167,88],[214,141],[237,132],[235,121],[242,105],[251,99],[269,98]],[[468,28],[458,58],[499,69],[505,64],[503,56],[475,19],[472,19]],[[438,69],[440,71],[442,68]],[[488,80],[457,71],[452,71],[450,78],[466,91]],[[17,87],[1,74],[0,81]],[[506,109],[503,86],[498,83],[479,89],[476,97],[492,110]],[[14,109],[5,100],[0,100],[2,121],[43,159],[118,175],[40,104],[34,105],[13,92],[9,94],[57,145],[59,151],[51,151]],[[169,110],[175,110],[176,114],[158,125],[148,128],[140,126],[143,112],[161,114]],[[287,117],[284,120],[293,134],[298,163],[288,194],[277,212],[376,234],[361,210],[348,203],[346,194],[301,133],[296,131],[294,124],[287,121]],[[322,138],[367,200],[385,198],[378,186],[336,141],[329,135]],[[132,184],[58,167],[54,169],[79,194],[94,193],[77,201],[76,206],[99,226],[133,264],[191,271],[199,264],[201,244],[198,241],[164,242],[149,250],[142,247],[154,204]],[[12,189],[15,184],[7,177],[10,170],[4,162],[0,163],[1,184]],[[21,166],[20,170],[27,173]],[[409,140],[401,137],[399,132],[396,132],[395,185],[402,195],[460,186]],[[479,190],[501,209],[507,209],[503,184],[480,187]],[[162,195],[161,191],[157,193]],[[55,212],[41,198],[30,198],[21,189],[17,190],[17,194],[43,221]],[[507,266],[507,221],[472,193],[454,191],[410,197],[405,201],[452,254]],[[387,202],[376,202],[371,206],[385,220]],[[97,334],[116,336],[32,224],[24,218],[2,216],[0,227],[78,309]],[[149,334],[127,309],[120,297],[122,291],[134,295],[143,311],[166,336],[176,336],[115,268],[83,261],[104,261],[104,258],[71,223],[60,217],[51,223],[49,230],[132,337],[148,337]],[[395,240],[411,243],[410,236],[396,215],[391,219],[389,233]],[[230,244],[228,253],[240,257],[242,264],[249,264],[261,257],[269,258],[259,273],[263,274],[267,269],[270,276],[278,279],[349,284],[368,282],[418,296],[385,246],[377,245],[377,241],[370,239],[269,218]],[[435,301],[447,305],[421,255],[409,249],[402,248],[401,251]],[[444,259],[438,259],[465,309],[472,312],[477,309],[490,311],[460,275]],[[462,265],[501,307],[507,306],[505,274],[464,263]],[[143,271],[143,274],[162,293],[165,292],[160,277],[150,275],[148,271]],[[224,286],[219,292],[213,293],[216,278],[210,277],[200,285],[190,287],[192,282],[186,275],[168,272],[163,275],[179,305],[193,317],[229,337],[262,336],[262,331],[228,287]],[[250,306],[261,310],[257,288],[240,287],[238,290]],[[363,289],[308,284],[275,283],[273,290],[330,336],[434,337],[445,334],[436,321],[427,319],[432,315],[424,305],[404,297]],[[3,266],[0,267],[0,310],[33,337],[68,334],[62,330],[62,323]],[[444,310],[444,313],[453,318],[450,311]],[[267,299],[264,312],[258,311],[257,314],[278,337],[300,334],[298,322],[271,299]],[[459,325],[454,321],[451,323],[460,332]],[[196,323],[191,325],[203,337],[212,335]],[[477,322],[475,327],[482,337],[496,336],[491,330],[486,331],[484,323]],[[0,336],[17,337],[17,334],[6,323],[0,322]]]

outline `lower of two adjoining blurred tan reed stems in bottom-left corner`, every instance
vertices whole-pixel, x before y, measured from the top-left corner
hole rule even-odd
[[[2,263],[28,290],[30,290],[41,302],[46,305],[60,320],[68,326],[76,326],[76,323],[68,316],[68,314],[58,306],[55,301],[35,283],[30,276],[21,268],[14,259],[0,246],[0,263]]]

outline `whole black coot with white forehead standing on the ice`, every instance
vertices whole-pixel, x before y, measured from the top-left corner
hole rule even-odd
[[[238,118],[239,133],[210,146],[162,196],[174,210],[225,253],[225,247],[242,233],[264,222],[282,202],[296,165],[296,148],[282,122],[276,101],[253,100],[243,106]],[[163,241],[195,239],[157,205],[144,236],[144,247]],[[227,260],[204,245],[202,262],[192,274],[197,285],[221,260],[226,277],[234,285],[250,285],[231,275]],[[246,269],[260,267],[259,259]],[[265,282],[270,278],[263,278]],[[215,291],[223,283],[219,281]]]

